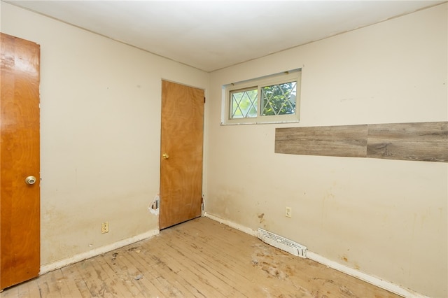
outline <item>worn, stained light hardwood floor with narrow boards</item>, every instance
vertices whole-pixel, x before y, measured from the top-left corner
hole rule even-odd
[[[209,218],[43,274],[1,297],[399,297]]]

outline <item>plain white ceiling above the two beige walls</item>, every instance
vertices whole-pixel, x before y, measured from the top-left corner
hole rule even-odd
[[[215,71],[444,1],[6,1]]]

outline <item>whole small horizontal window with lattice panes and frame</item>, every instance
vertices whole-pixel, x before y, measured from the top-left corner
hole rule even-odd
[[[299,121],[300,69],[224,86],[223,124]]]

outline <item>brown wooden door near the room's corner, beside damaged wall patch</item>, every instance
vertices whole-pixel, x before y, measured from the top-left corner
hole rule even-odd
[[[204,90],[162,81],[160,229],[202,212]]]

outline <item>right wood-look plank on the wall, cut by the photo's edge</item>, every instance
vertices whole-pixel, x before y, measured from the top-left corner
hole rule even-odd
[[[448,122],[368,125],[367,157],[448,162]]]

